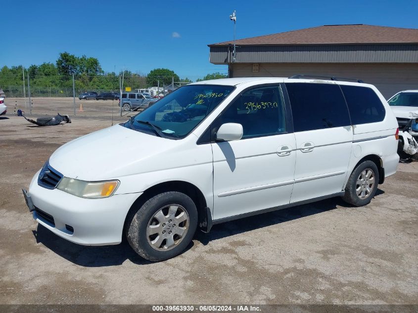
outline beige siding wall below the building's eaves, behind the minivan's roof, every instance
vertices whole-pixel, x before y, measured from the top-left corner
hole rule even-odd
[[[385,98],[398,91],[418,89],[418,63],[234,63],[231,77],[290,77],[296,74],[329,75],[361,79],[375,85]]]

